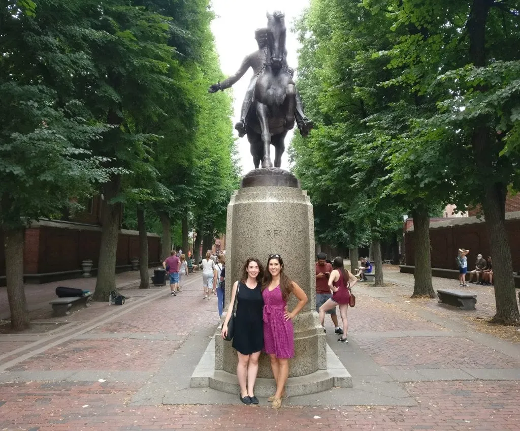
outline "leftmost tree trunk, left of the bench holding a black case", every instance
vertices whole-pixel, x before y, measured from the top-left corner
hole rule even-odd
[[[29,327],[29,310],[23,288],[23,235],[23,228],[4,230],[7,299],[14,331]]]

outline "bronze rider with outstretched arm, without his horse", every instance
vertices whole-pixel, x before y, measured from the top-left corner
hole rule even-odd
[[[264,71],[265,64],[267,62],[267,29],[257,29],[255,30],[255,39],[258,43],[258,50],[254,53],[251,53],[247,57],[244,58],[242,64],[238,71],[231,75],[229,78],[224,80],[223,82],[218,82],[217,84],[213,84],[210,86],[208,91],[210,93],[215,93],[218,90],[224,91],[225,88],[229,88],[235,82],[237,82],[240,78],[243,77],[244,73],[248,71],[249,68],[253,69],[253,78],[251,78],[251,82],[249,83],[248,90],[245,92],[244,102],[242,103],[242,110],[240,112],[240,120],[235,124],[235,129],[238,131],[238,135],[240,137],[245,135],[245,117],[248,115],[249,108],[251,107],[251,103],[253,100],[253,91],[255,88],[256,79],[259,75],[261,75]],[[293,69],[288,68],[288,73],[291,74]],[[292,74],[291,74],[292,77]],[[296,91],[296,110],[294,113],[294,117],[296,119],[296,124],[298,124],[298,129],[300,129],[300,133],[302,136],[307,136],[309,134],[309,130],[313,128],[313,122],[310,121],[303,112],[303,104],[300,95]]]

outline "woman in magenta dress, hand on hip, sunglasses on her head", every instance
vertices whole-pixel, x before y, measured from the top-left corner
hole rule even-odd
[[[291,294],[298,299],[294,310],[287,310]],[[289,377],[289,359],[294,356],[294,328],[292,319],[307,303],[303,289],[283,272],[280,255],[269,255],[267,271],[262,283],[264,298],[264,350],[271,360],[272,375],[275,377],[275,395],[267,398],[273,409],[279,409],[285,398],[285,383]]]

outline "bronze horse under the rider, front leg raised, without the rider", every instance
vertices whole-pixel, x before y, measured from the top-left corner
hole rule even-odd
[[[275,167],[279,168],[284,139],[294,127],[296,87],[288,71],[285,50],[284,14],[267,13],[268,55],[264,72],[256,80],[253,103],[246,118],[246,135],[251,144],[255,168],[271,168],[270,146],[275,147]]]

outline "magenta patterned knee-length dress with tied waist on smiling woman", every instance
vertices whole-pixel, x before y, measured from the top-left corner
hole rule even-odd
[[[280,285],[269,291],[262,290],[264,298],[264,351],[277,358],[289,359],[294,356],[294,328],[292,320],[283,317],[287,302],[283,300]]]

